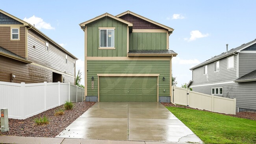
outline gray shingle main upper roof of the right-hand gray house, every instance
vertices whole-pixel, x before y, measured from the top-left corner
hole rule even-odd
[[[215,56],[215,57],[212,57],[211,59],[208,59],[207,61],[204,61],[204,62],[200,63],[199,65],[194,66],[193,68],[190,68],[190,70],[193,70],[193,69],[195,69],[195,68],[197,68],[197,67],[199,67],[199,66],[205,65],[206,63],[210,63],[210,62],[212,62],[212,61],[215,61],[215,60],[217,60],[217,59],[219,59],[219,58],[228,56],[229,54],[232,54],[232,53],[236,52],[237,50],[239,50],[239,49],[241,49],[241,48],[243,48],[243,47],[245,47],[245,46],[248,46],[249,44],[251,44],[251,43],[253,43],[253,42],[256,42],[256,39],[254,39],[253,41],[250,41],[250,42],[248,42],[248,43],[246,43],[246,44],[242,44],[241,46],[238,46],[237,48],[232,48],[231,50],[228,51],[228,53],[223,52],[223,53],[220,54],[220,55],[217,55],[217,56]]]

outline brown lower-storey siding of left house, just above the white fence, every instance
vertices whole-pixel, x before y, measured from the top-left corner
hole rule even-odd
[[[10,74],[16,77],[14,83],[43,83],[52,82],[52,71],[26,64],[0,55],[0,81],[11,82]]]

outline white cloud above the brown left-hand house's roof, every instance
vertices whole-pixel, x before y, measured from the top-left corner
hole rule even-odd
[[[30,18],[25,17],[23,20],[32,25],[35,25],[35,27],[38,28],[39,30],[42,28],[47,30],[54,30],[50,23],[44,22],[43,18],[35,17],[35,15],[33,15]]]

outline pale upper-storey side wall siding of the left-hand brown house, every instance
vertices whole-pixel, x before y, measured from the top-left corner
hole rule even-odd
[[[45,40],[38,37],[32,31],[28,31],[28,33],[36,37],[28,35],[28,60],[62,72],[60,74],[65,78],[65,82],[74,84],[74,59],[67,55],[68,62],[65,63],[66,54],[64,52],[53,46],[50,42],[49,51],[46,51]]]

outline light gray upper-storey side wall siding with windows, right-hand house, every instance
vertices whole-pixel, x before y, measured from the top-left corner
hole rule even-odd
[[[208,64],[208,74],[203,75],[203,66],[195,68],[193,70],[193,83],[192,85],[204,85],[209,83],[219,83],[225,81],[234,81],[237,79],[236,72],[236,58],[234,55],[234,68],[227,69],[227,57],[219,60],[220,70],[214,72],[214,62]]]

